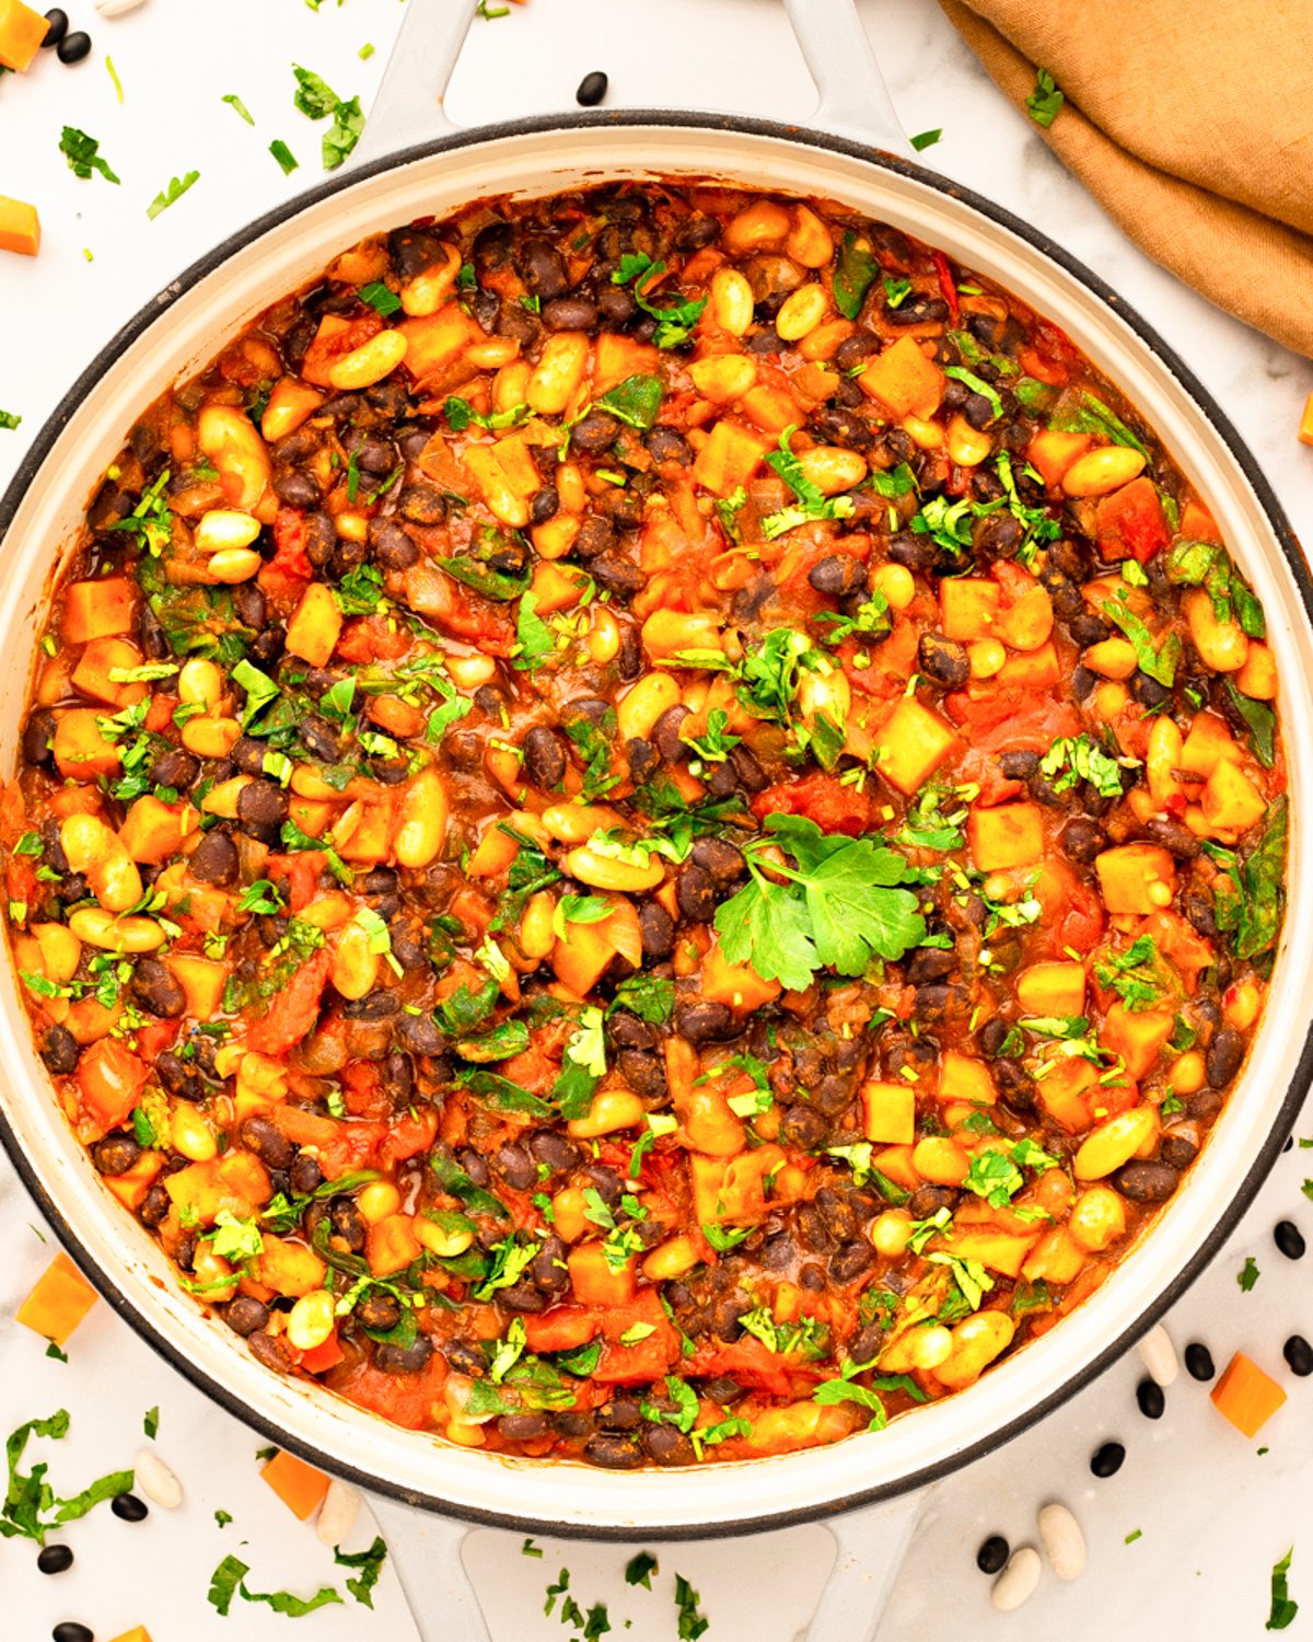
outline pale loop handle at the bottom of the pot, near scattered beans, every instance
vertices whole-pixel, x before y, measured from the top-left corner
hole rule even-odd
[[[826,1522],[837,1555],[806,1642],[873,1642],[929,1494],[899,1494]],[[368,1498],[420,1642],[492,1642],[461,1560],[468,1524],[379,1494]],[[725,1550],[732,1555],[732,1540]]]

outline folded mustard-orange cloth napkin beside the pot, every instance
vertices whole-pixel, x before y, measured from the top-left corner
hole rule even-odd
[[[1121,228],[1187,284],[1313,356],[1313,0],[939,0]]]

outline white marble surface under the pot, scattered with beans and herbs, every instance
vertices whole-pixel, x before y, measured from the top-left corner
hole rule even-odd
[[[39,202],[46,230],[38,261],[0,256],[0,407],[23,415],[16,432],[0,432],[0,486],[117,327],[215,241],[320,176],[318,131],[292,108],[289,62],[315,69],[345,95],[359,92],[368,107],[400,18],[397,0],[323,0],[318,15],[297,0],[146,0],[113,21],[98,18],[89,0],[72,0],[67,10],[74,28],[92,33],[92,59],[66,69],[44,53],[33,74],[0,79],[0,192]],[[1218,314],[1141,256],[1003,102],[932,0],[862,0],[862,15],[908,131],[944,128],[924,158],[1044,225],[1116,286],[1203,378],[1302,530],[1313,516],[1313,450],[1293,435],[1313,365]],[[366,41],[377,49],[361,62],[356,53]],[[105,51],[123,80],[123,107]],[[724,107],[801,122],[814,107],[776,0],[528,0],[507,18],[474,23],[448,110],[461,125],[476,125],[565,108],[594,67],[609,72],[607,102],[615,107]],[[226,92],[246,102],[254,130],[220,102]],[[57,153],[64,123],[100,140],[120,187],[67,171]],[[266,153],[276,136],[302,161],[289,179]],[[148,222],[146,204],[187,169],[199,169],[200,182]],[[1313,1118],[1300,1130],[1313,1133]],[[1282,1158],[1229,1246],[1167,1319],[1178,1346],[1206,1340],[1219,1366],[1244,1348],[1290,1391],[1262,1437],[1241,1438],[1213,1412],[1205,1387],[1185,1376],[1167,1394],[1167,1415],[1144,1420],[1134,1404],[1142,1371],[1131,1355],[1042,1425],[940,1484],[880,1642],[924,1642],[962,1629],[1016,1642],[1057,1634],[1095,1642],[1114,1632],[1128,1642],[1259,1635],[1269,1570],[1292,1543],[1292,1594],[1313,1604],[1313,1384],[1293,1379],[1280,1358],[1292,1330],[1313,1333],[1310,1268],[1285,1261],[1270,1240],[1283,1217],[1313,1240],[1313,1207],[1300,1194],[1306,1164],[1298,1149]],[[228,1552],[251,1563],[256,1589],[309,1594],[333,1580],[310,1529],[259,1484],[259,1438],[192,1391],[103,1302],[74,1335],[71,1363],[49,1361],[43,1343],[11,1323],[53,1254],[39,1232],[21,1186],[0,1164],[0,1432],[67,1407],[69,1438],[33,1443],[33,1456],[49,1458],[56,1489],[69,1493],[103,1470],[131,1465],[144,1440],[141,1417],[158,1404],[156,1447],[187,1499],[140,1527],[100,1507],[69,1530],[77,1563],[57,1578],[36,1573],[26,1542],[0,1542],[5,1634],[28,1642],[59,1619],[80,1619],[98,1639],[136,1622],[156,1642],[282,1635],[289,1621],[266,1609],[238,1603],[223,1621],[205,1603],[208,1576]],[[1247,1254],[1262,1276],[1242,1294],[1236,1273]],[[1109,1437],[1126,1443],[1128,1460],[1114,1479],[1100,1483],[1088,1456]],[[1262,1445],[1270,1452],[1256,1453]],[[1080,1517],[1088,1570],[1073,1585],[1045,1571],[1024,1609],[996,1614],[975,1548],[991,1532],[1034,1542],[1036,1511],[1049,1499],[1064,1499]],[[233,1524],[220,1530],[217,1509],[231,1512]],[[1141,1537],[1128,1545],[1136,1529]],[[368,1540],[361,1524],[350,1543]],[[648,1596],[627,1591],[619,1578],[627,1552],[542,1543],[547,1555],[530,1560],[520,1557],[519,1537],[481,1530],[468,1542],[496,1642],[566,1635],[556,1617],[542,1614],[543,1588],[561,1563],[571,1568],[578,1601],[607,1599],[615,1632],[632,1619],[625,1634],[635,1642],[675,1637],[675,1571],[701,1591],[712,1642],[789,1642],[827,1560],[817,1529],[671,1547],[660,1552],[661,1575]],[[1305,1614],[1297,1627],[1310,1622]],[[414,1635],[391,1570],[373,1616],[348,1604],[297,1627],[297,1635],[320,1642]]]

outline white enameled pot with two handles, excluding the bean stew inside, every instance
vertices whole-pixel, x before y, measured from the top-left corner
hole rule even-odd
[[[105,1190],[53,1100],[15,977],[0,977],[3,1141],[69,1251],[110,1304],[215,1401],[373,1491],[394,1550],[405,1552],[405,1539],[420,1547],[419,1557],[402,1555],[400,1571],[422,1634],[446,1642],[486,1637],[460,1563],[463,1522],[653,1540],[827,1517],[840,1555],[809,1634],[814,1642],[870,1635],[916,1520],[916,1491],[1050,1412],[1182,1292],[1280,1153],[1313,1064],[1313,964],[1300,938],[1313,928],[1313,586],[1280,506],[1188,366],[1114,292],[1041,230],[899,158],[904,144],[849,0],[786,3],[822,92],[822,131],[634,112],[458,133],[437,94],[474,0],[410,0],[355,167],[253,223],[162,291],[72,388],[0,501],[0,767],[13,768],[61,548],[126,430],[171,381],[368,233],[492,194],[538,195],[620,177],[717,177],[839,199],[942,246],[1068,332],[1159,430],[1267,611],[1283,681],[1293,808],[1287,933],[1265,1023],[1201,1158],[1144,1246],[1078,1312],[972,1389],[885,1432],[780,1458],[637,1476],[446,1447],[261,1368],[236,1335],[177,1289],[154,1240]],[[881,1501],[875,1512],[855,1509]]]

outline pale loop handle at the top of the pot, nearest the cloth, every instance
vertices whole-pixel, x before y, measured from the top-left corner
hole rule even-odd
[[[478,0],[410,0],[351,164],[451,136],[441,99]],[[821,131],[913,158],[855,0],[785,0],[803,59],[821,94]]]

